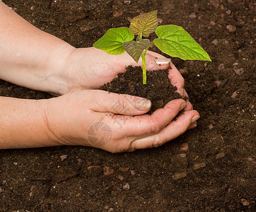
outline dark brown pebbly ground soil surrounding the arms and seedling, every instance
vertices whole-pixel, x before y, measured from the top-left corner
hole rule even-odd
[[[164,146],[0,151],[0,211],[256,210],[255,1],[3,1],[74,47],[158,9],[161,25],[181,25],[212,62],[172,59],[201,119]],[[5,81],[0,95],[52,98]]]

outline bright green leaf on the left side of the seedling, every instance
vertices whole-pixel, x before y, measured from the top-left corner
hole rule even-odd
[[[94,47],[108,54],[123,54],[123,42],[133,40],[134,35],[129,28],[111,28],[99,40],[94,42]]]

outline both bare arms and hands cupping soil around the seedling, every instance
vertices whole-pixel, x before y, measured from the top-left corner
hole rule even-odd
[[[111,153],[135,151],[160,146],[196,126],[199,113],[189,101],[172,100],[149,115],[149,100],[95,90],[125,72],[126,66],[142,66],[141,60],[136,64],[126,53],[74,48],[35,28],[1,1],[0,20],[0,78],[60,95],[49,100],[0,97],[1,149],[79,145]],[[187,95],[174,64],[158,65],[157,58],[162,56],[148,51],[147,70],[171,66],[171,83]],[[182,109],[184,114],[174,121]],[[98,122],[111,129],[107,142],[88,136],[90,126]]]

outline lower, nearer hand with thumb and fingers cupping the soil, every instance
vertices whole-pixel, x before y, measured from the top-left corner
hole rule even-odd
[[[104,90],[72,90],[43,103],[45,120],[57,145],[81,145],[111,153],[152,148],[193,128],[199,113],[184,112],[184,100],[172,100],[152,115],[151,102]]]

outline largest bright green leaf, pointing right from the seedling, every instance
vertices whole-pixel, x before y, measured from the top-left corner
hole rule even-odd
[[[184,28],[177,25],[160,25],[155,33],[159,38],[155,39],[154,43],[165,54],[184,60],[211,61],[207,52]]]

